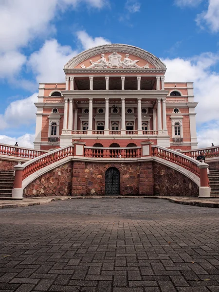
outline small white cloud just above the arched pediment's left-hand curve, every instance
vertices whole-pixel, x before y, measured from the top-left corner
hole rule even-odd
[[[104,37],[90,37],[85,31],[78,31],[76,36],[80,40],[84,50],[90,49],[92,47],[110,44],[111,42]]]

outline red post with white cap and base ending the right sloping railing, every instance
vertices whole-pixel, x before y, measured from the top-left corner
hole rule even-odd
[[[200,198],[209,198],[211,197],[211,188],[209,186],[208,179],[208,164],[202,162],[198,165],[200,169],[200,188],[199,188],[199,197]]]

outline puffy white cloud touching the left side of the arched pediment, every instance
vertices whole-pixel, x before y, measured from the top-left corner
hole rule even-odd
[[[63,67],[76,54],[70,46],[61,46],[56,39],[46,40],[27,64],[37,75],[37,82],[63,82]]]

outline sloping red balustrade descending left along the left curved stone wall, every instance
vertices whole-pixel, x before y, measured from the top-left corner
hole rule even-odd
[[[47,154],[41,155],[40,157],[35,158],[34,160],[26,162],[25,164],[22,165],[24,167],[22,180],[24,180],[37,170],[47,165],[53,164],[56,161],[62,160],[63,158],[66,158],[68,156],[73,156],[73,154],[74,154],[73,146],[68,146],[66,148],[56,149]]]

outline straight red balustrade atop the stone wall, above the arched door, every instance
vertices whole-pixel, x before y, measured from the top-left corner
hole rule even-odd
[[[141,147],[101,148],[84,147],[84,157],[93,158],[138,158],[142,156]],[[121,157],[120,157],[121,156]]]

